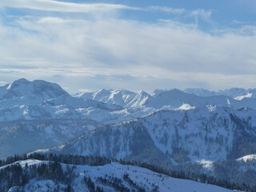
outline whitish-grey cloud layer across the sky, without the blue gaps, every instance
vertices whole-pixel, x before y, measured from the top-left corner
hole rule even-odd
[[[47,3],[51,4],[50,8],[45,7]],[[54,6],[56,3],[58,6]],[[39,0],[24,1],[23,5],[14,0],[0,2],[0,6],[93,14],[101,12],[103,5],[110,11],[136,9]],[[186,12],[159,7],[153,10]],[[190,11],[190,14],[206,19],[211,16],[205,10]],[[254,87],[254,27],[250,26],[250,34],[241,33],[243,29],[209,34],[198,30],[197,24],[172,19],[141,22],[119,18],[116,14],[93,18],[29,15],[15,17],[7,25],[2,19],[0,81],[44,78],[59,82],[73,92],[102,87],[130,90]]]

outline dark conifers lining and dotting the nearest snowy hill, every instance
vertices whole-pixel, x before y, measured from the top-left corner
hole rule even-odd
[[[25,166],[22,169],[19,163],[14,163],[22,160],[37,159],[42,161],[48,161],[48,163],[42,163],[40,165]],[[38,181],[44,179],[50,179],[57,183],[63,183],[66,185],[65,191],[72,191],[71,183],[75,178],[74,167],[66,166],[66,170],[62,169],[61,163],[72,164],[72,165],[88,165],[88,166],[104,166],[111,162],[118,162],[122,165],[139,166],[152,170],[159,174],[168,175],[172,178],[183,178],[189,179],[195,182],[208,183],[216,186],[222,186],[230,190],[243,190],[256,192],[256,186],[248,186],[245,183],[242,185],[238,182],[228,182],[225,179],[217,179],[213,176],[206,174],[195,174],[190,172],[182,172],[176,170],[165,170],[162,167],[149,165],[144,162],[135,161],[123,161],[122,159],[110,160],[109,158],[102,157],[91,157],[82,155],[70,155],[70,154],[29,154],[29,155],[15,155],[14,157],[6,158],[6,160],[0,161],[0,166],[4,166],[0,170],[0,191],[8,191],[12,186],[25,186],[31,178],[37,178]],[[13,164],[12,164],[13,163]],[[11,164],[11,165],[10,165]],[[130,183],[130,186],[134,186],[137,191],[143,191],[139,186],[130,180],[129,175],[124,175],[123,178],[126,182]],[[101,192],[102,188],[96,186],[90,177],[84,178],[86,185],[90,191]],[[107,184],[108,186],[114,187],[116,190],[122,189],[123,191],[129,191],[125,186],[122,186],[122,182],[118,178],[98,178],[98,182]],[[156,186],[156,189],[158,186]],[[120,190],[121,191],[121,190]],[[157,191],[157,190],[156,190]]]

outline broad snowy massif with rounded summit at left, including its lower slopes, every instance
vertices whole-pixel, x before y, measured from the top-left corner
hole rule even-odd
[[[57,84],[41,80],[20,79],[1,86],[0,90],[0,159],[58,146],[103,124],[129,121],[154,112],[149,107],[124,109],[72,97]],[[144,96],[138,98],[138,103],[143,103]]]

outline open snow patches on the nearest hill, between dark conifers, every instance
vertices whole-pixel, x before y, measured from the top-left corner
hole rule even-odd
[[[26,163],[31,165],[38,165],[40,162],[35,160],[26,160],[23,162],[19,162],[21,166],[24,168]],[[66,170],[66,164],[62,163],[63,171]],[[90,177],[91,181],[95,183],[96,186],[102,187],[104,191],[114,191],[109,185],[106,185],[102,182],[98,181],[98,178],[106,178],[107,181],[112,181],[111,179],[116,179],[122,183],[123,186],[126,188],[133,190],[134,186],[131,185],[129,182],[126,182],[124,179],[125,175],[128,175],[131,181],[134,182],[135,185],[142,187],[146,191],[154,191],[154,189],[158,189],[158,191],[179,191],[179,192],[186,192],[186,191],[197,191],[197,192],[207,192],[207,191],[214,191],[214,192],[228,192],[233,190],[227,190],[225,188],[219,186],[213,186],[205,183],[194,182],[186,179],[178,179],[178,178],[171,178],[164,174],[154,173],[151,170],[147,170],[145,168],[137,167],[137,166],[124,166],[118,163],[111,163],[105,166],[74,166],[75,167],[75,178],[74,182],[72,182],[71,187],[74,191],[89,191],[84,182],[84,177]],[[1,169],[1,168],[0,168]],[[55,183],[52,180],[39,180],[31,179],[26,186],[14,186],[12,187],[9,192],[14,192],[17,190],[24,190],[35,192],[46,192],[46,191],[64,191],[66,185],[62,183]]]

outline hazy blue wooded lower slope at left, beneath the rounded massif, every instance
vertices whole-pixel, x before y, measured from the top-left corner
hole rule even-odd
[[[52,147],[101,127],[82,119],[46,119],[0,122],[0,159],[24,154],[42,147]]]

